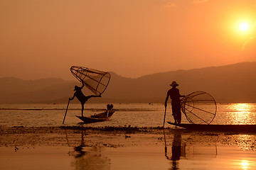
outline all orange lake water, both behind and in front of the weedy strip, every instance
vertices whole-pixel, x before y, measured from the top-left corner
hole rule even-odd
[[[0,126],[63,125],[66,107],[66,104],[1,104]],[[85,115],[100,113],[105,108],[106,104],[86,104]],[[85,126],[163,125],[162,104],[114,104],[114,109],[117,111],[110,121]],[[167,108],[166,120],[174,121],[170,111],[171,108]],[[80,120],[75,115],[80,115],[80,105],[70,104],[65,125],[78,125]],[[255,118],[254,103],[218,104],[213,124],[256,124]],[[182,122],[188,123],[185,116]],[[166,123],[166,126],[170,125]],[[82,133],[73,134],[73,137],[67,136],[67,140],[82,143],[86,137]],[[146,141],[154,140],[152,145],[117,148],[24,146],[18,152],[14,147],[3,146],[0,147],[0,169],[256,169],[255,134],[166,130],[153,138],[146,137]]]

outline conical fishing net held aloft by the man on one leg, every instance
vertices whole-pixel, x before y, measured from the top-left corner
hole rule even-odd
[[[102,94],[110,82],[110,73],[86,67],[72,66],[70,72],[96,95]]]

